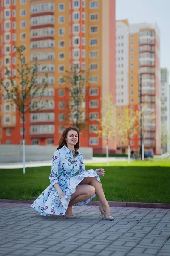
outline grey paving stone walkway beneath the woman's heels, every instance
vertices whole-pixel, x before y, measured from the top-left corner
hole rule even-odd
[[[0,256],[170,256],[170,209],[74,207],[76,219],[0,203]]]

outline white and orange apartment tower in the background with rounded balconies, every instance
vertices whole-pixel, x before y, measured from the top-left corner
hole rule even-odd
[[[145,115],[155,113],[155,123],[147,124],[144,148],[161,153],[161,83],[160,32],[156,23],[129,24],[116,21],[116,105],[118,116],[126,108],[139,109],[139,75],[142,74],[142,104]],[[139,149],[140,134],[130,140],[131,148]],[[125,153],[127,143],[117,141],[117,151]]]

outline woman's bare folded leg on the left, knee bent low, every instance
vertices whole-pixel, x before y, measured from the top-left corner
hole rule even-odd
[[[71,195],[70,203],[66,212],[72,214],[72,206],[78,202],[82,202],[91,198],[95,194],[95,188],[92,185],[82,184],[76,187],[76,192]]]

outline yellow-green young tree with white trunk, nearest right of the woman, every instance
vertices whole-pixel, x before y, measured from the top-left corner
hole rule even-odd
[[[98,119],[101,129],[96,131],[96,133],[99,138],[102,137],[105,139],[107,166],[109,166],[108,142],[109,139],[116,137],[116,106],[113,105],[112,94],[110,94],[109,97],[105,97],[105,105],[101,110],[101,115],[101,119]]]

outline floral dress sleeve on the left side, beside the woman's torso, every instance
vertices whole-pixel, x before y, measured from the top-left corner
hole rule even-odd
[[[51,185],[59,183],[59,163],[60,154],[59,151],[55,151],[52,158],[51,174],[49,176]]]

